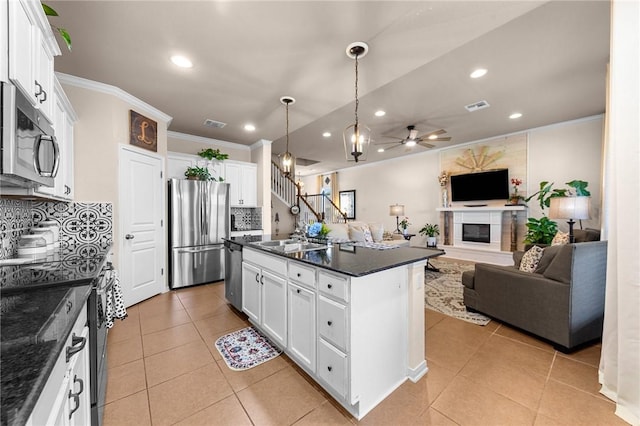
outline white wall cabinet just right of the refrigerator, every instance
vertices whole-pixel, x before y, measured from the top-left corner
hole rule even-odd
[[[258,166],[254,163],[225,161],[225,181],[229,184],[229,204],[242,207],[258,205]]]

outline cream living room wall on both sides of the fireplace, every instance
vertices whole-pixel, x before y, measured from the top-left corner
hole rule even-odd
[[[526,193],[536,192],[542,180],[556,182],[556,187],[564,187],[565,182],[574,179],[585,180],[589,182],[587,189],[591,191],[593,207],[592,219],[583,221],[583,226],[599,229],[603,116],[540,127],[525,133],[529,161]],[[405,215],[412,224],[409,226],[411,233],[417,233],[425,223],[439,223],[442,230],[440,215],[435,210],[441,202],[439,159],[439,151],[432,150],[342,169],[338,171],[338,189],[356,190],[356,220],[382,222],[385,229],[394,230],[396,219],[389,216],[389,206],[398,203],[405,206]],[[307,176],[303,181],[305,192],[318,193],[316,176]],[[531,217],[541,215],[534,200],[529,203],[528,214]],[[568,230],[562,221],[558,226]],[[518,240],[522,239],[523,234],[518,236]]]

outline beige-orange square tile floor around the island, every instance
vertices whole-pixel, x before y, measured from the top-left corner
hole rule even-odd
[[[216,283],[128,309],[108,338],[104,426],[122,425],[625,425],[598,393],[600,345],[565,355],[492,321],[425,310],[429,372],[360,422],[289,358],[226,367],[213,342],[246,327]]]

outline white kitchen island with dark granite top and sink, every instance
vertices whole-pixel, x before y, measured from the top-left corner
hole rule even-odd
[[[357,419],[427,372],[424,269],[441,250],[242,244],[242,310]]]

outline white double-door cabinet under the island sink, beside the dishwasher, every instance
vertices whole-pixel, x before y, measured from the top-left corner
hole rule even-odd
[[[287,346],[287,261],[245,248],[242,310],[280,347]]]

